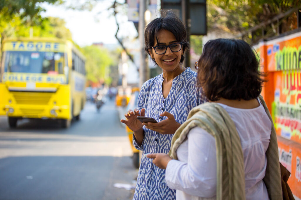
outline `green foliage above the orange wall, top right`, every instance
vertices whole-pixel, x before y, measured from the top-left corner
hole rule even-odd
[[[208,29],[222,28],[227,32],[239,34],[247,32],[250,28],[266,22],[275,16],[286,11],[300,7],[300,0],[207,0],[207,25]],[[292,30],[296,14],[281,19],[282,32]],[[289,24],[285,26],[286,24]],[[265,27],[266,37],[277,34],[276,23]],[[262,38],[261,30],[255,31],[252,35],[246,34],[243,39],[259,40]]]

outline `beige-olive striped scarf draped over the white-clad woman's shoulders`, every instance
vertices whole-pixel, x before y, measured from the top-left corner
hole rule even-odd
[[[259,98],[272,121],[264,100],[261,96]],[[187,120],[178,128],[172,138],[169,155],[177,160],[177,148],[186,139],[190,129],[196,126],[206,130],[216,141],[216,199],[246,199],[244,155],[240,138],[231,117],[219,104],[204,103],[189,112]],[[269,197],[270,199],[282,199],[278,145],[273,123],[266,157],[267,167],[263,180],[267,187]]]

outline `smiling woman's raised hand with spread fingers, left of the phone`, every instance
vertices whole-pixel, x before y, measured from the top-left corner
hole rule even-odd
[[[145,114],[144,108],[141,109],[140,114],[138,109],[134,109],[134,111],[129,109],[128,113],[124,114],[126,120],[122,119],[120,120],[120,122],[126,124],[129,127],[129,129],[131,129],[132,131],[137,132],[139,130],[142,130],[143,127],[141,121],[137,119],[137,116],[144,117],[144,114]]]

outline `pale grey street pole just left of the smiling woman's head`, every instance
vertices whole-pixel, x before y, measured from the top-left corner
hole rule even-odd
[[[139,34],[139,43],[140,43],[139,87],[141,87],[142,84],[145,81],[147,81],[146,53],[144,50],[145,10],[146,10],[146,1],[139,0],[139,22],[138,22],[138,34]]]

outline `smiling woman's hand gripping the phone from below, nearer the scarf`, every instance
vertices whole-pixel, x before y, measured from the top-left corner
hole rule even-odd
[[[158,123],[148,122],[142,124],[145,125],[145,128],[151,129],[161,134],[174,134],[178,127],[181,126],[181,124],[175,121],[175,117],[169,112],[164,111],[160,114],[160,116],[166,116],[167,119],[162,120]]]

